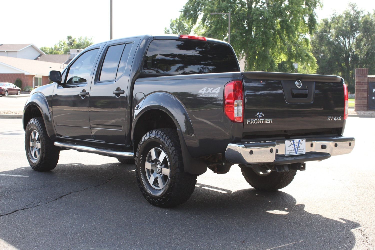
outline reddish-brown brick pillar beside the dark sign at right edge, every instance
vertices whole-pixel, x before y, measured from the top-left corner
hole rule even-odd
[[[368,89],[368,75],[369,69],[356,69],[356,104],[355,111],[367,110],[367,89]]]

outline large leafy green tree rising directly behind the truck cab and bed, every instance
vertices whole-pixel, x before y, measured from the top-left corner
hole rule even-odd
[[[231,13],[231,45],[239,58],[245,58],[248,71],[315,73],[317,64],[311,52],[309,34],[315,29],[315,9],[319,0],[188,0],[177,20],[194,33],[220,40],[228,37]],[[186,21],[185,21],[186,20]]]

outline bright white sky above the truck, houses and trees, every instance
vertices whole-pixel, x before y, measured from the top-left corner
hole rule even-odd
[[[95,43],[109,40],[110,0],[3,0],[0,14],[0,44],[51,47],[66,36],[87,36]],[[113,38],[164,33],[171,19],[180,15],[187,0],[113,0]],[[365,11],[375,1],[322,0],[318,19],[341,12],[348,2]]]

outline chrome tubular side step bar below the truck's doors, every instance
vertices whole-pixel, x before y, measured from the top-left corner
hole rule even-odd
[[[60,148],[75,149],[78,152],[87,152],[87,153],[93,153],[93,154],[98,154],[98,155],[105,155],[105,156],[110,156],[110,157],[118,157],[118,158],[126,158],[126,159],[134,158],[133,152],[121,152],[121,151],[116,151],[112,149],[93,148],[89,146],[76,145],[76,144],[67,143],[67,142],[54,142],[54,145]]]

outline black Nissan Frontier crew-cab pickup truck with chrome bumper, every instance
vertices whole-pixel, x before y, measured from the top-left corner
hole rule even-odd
[[[240,72],[231,45],[188,35],[134,36],[87,47],[23,115],[32,169],[75,149],[136,166],[153,205],[191,196],[196,176],[239,164],[249,184],[278,190],[306,161],[348,154],[344,80],[332,75]]]

